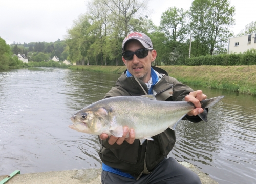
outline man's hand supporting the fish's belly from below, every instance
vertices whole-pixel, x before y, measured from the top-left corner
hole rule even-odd
[[[126,135],[129,133],[129,137],[126,138]],[[108,134],[101,134],[100,139],[102,140],[106,140],[109,136]],[[115,136],[110,136],[109,138],[109,144],[113,145],[115,143],[117,143],[118,145],[122,144],[123,141],[127,141],[129,144],[133,144],[134,140],[135,140],[135,133],[134,133],[134,129],[130,129],[128,131],[128,127],[124,126],[123,127],[123,137],[115,137]]]

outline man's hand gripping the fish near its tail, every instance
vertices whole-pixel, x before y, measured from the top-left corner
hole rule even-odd
[[[205,94],[203,94],[203,92],[201,90],[190,92],[189,95],[187,95],[185,97],[185,101],[189,101],[189,102],[193,103],[196,106],[196,108],[193,109],[192,111],[188,112],[187,115],[188,116],[196,116],[196,115],[204,112],[204,110],[201,108],[200,101],[205,100],[206,98],[207,98],[207,96]]]

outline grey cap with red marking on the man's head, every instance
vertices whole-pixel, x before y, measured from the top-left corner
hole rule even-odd
[[[124,46],[129,40],[138,40],[144,46],[144,48],[153,48],[150,37],[148,37],[144,33],[132,32],[124,38],[122,44],[122,51],[124,51]]]

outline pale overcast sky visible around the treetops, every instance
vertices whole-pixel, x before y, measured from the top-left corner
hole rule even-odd
[[[0,37],[7,44],[15,42],[54,42],[65,39],[73,21],[87,11],[88,0],[0,0]],[[192,0],[151,0],[149,18],[159,25],[161,14],[168,7],[188,10]],[[230,28],[238,34],[245,25],[256,21],[255,0],[231,0],[236,8],[236,25]]]

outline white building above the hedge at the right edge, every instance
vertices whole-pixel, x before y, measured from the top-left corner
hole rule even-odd
[[[227,54],[243,53],[252,48],[256,49],[256,33],[229,38]]]

